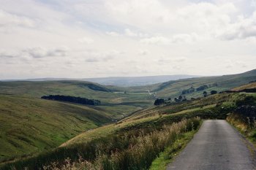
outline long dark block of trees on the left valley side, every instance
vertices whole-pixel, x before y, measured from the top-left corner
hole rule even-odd
[[[42,96],[43,99],[48,100],[56,100],[56,101],[68,101],[76,104],[89,104],[89,105],[99,105],[99,100],[89,99],[89,98],[81,98],[74,96],[63,96],[63,95],[50,95],[50,96]]]

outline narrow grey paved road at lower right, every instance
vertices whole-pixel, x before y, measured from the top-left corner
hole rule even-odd
[[[206,120],[167,170],[255,169],[252,152],[225,120]]]

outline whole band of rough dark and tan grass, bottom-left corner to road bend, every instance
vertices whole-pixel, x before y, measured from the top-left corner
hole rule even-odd
[[[197,129],[199,125],[200,118],[196,117],[161,125],[161,130],[119,131],[84,144],[60,147],[56,152],[41,154],[37,158],[6,164],[1,169],[77,169],[81,165],[83,169],[148,169],[159,152],[175,142],[178,136]],[[67,160],[75,167],[68,167]]]

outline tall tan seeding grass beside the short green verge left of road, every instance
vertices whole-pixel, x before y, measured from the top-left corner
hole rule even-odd
[[[69,158],[64,162],[53,162],[43,169],[71,170],[71,169],[105,169],[105,170],[136,170],[148,169],[152,161],[164,151],[166,147],[175,142],[181,134],[195,130],[200,125],[200,118],[181,120],[172,125],[162,125],[160,131],[154,130],[144,133],[143,129],[137,133],[116,136],[112,144],[102,140],[97,143],[96,157],[94,160],[80,158],[71,161]],[[112,141],[113,142],[113,141]]]

